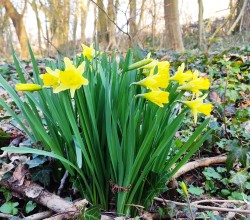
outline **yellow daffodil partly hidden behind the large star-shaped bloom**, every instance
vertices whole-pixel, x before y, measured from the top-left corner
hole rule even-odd
[[[56,89],[56,87],[59,86],[59,73],[60,70],[52,70],[49,67],[46,67],[46,73],[40,75],[40,78],[43,80],[43,84],[45,87],[52,86],[53,89]]]

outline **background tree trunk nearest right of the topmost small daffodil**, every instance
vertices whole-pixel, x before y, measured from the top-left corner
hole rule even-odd
[[[97,25],[97,38],[98,42],[106,48],[109,42],[108,38],[108,19],[105,13],[103,0],[97,0],[98,5],[98,25]]]

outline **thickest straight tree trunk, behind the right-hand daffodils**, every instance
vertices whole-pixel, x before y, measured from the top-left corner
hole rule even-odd
[[[164,18],[167,49],[184,51],[179,21],[178,1],[164,0]]]

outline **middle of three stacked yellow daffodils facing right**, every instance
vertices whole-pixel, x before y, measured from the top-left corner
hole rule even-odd
[[[151,75],[139,82],[132,83],[132,85],[145,86],[150,90],[160,90],[160,88],[167,88],[169,76],[167,74]]]

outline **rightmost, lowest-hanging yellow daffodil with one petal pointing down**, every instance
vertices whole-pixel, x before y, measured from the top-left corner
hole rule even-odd
[[[196,124],[197,122],[197,115],[198,113],[202,113],[206,116],[209,116],[213,105],[210,103],[203,103],[203,100],[207,97],[207,94],[202,96],[201,98],[197,98],[195,100],[192,101],[180,101],[182,103],[184,103],[186,106],[188,106],[193,113],[194,116],[194,123]]]

